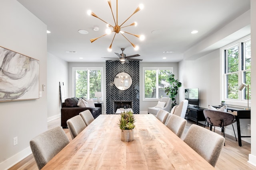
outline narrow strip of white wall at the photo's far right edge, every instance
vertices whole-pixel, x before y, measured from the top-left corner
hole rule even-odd
[[[251,0],[251,93],[256,94],[256,1]],[[249,163],[256,166],[256,96],[251,99],[251,154],[249,154]]]

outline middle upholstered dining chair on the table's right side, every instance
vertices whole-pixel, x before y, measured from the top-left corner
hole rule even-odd
[[[166,124],[171,131],[173,131],[179,138],[181,137],[186,127],[187,120],[177,115],[171,115],[169,121]]]

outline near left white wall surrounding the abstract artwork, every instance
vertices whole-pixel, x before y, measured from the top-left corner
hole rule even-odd
[[[46,25],[16,0],[0,1],[0,46],[39,60],[39,90],[46,84]],[[31,154],[29,141],[47,130],[47,90],[42,98],[0,102],[0,169]],[[18,145],[13,146],[13,138]]]

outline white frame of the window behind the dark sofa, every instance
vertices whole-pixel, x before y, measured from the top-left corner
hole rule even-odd
[[[87,70],[88,72],[90,72],[90,70],[100,70],[101,72],[101,92],[102,92],[102,101],[104,101],[104,88],[103,88],[103,67],[72,67],[72,95],[75,96],[75,86],[74,86],[74,81],[75,81],[75,71],[76,70]],[[89,84],[89,80],[90,80],[90,75],[87,74],[87,84]],[[90,88],[88,86],[88,99],[90,99]],[[97,100],[97,98],[93,98],[94,100]]]

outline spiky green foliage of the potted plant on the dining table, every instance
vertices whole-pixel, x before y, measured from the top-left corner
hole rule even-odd
[[[134,115],[132,114],[132,111],[124,111],[120,115],[121,118],[119,119],[118,123],[119,128],[122,130],[134,129],[134,122],[136,120]]]

